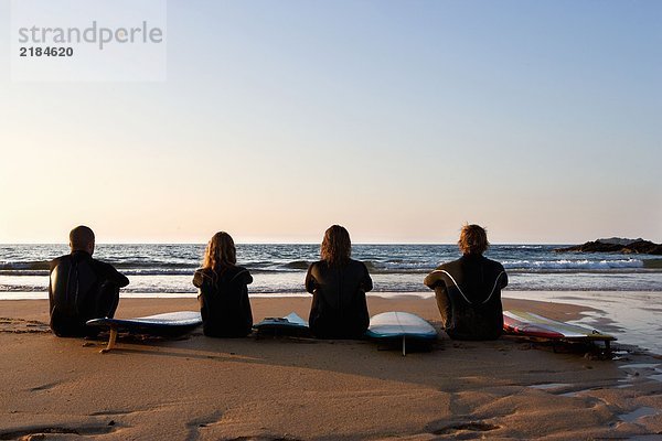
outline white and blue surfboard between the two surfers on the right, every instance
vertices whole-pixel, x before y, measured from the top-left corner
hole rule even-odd
[[[437,330],[416,314],[391,311],[373,315],[365,335],[376,341],[402,341],[403,355],[407,355],[407,341],[431,343],[437,340]]]

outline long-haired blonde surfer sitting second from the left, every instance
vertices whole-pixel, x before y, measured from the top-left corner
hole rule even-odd
[[[200,312],[204,335],[245,337],[253,329],[248,284],[253,276],[237,267],[232,237],[216,233],[204,251],[202,268],[195,271],[193,284],[199,288]]]

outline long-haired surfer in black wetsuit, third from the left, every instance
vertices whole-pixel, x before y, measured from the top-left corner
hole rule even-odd
[[[350,258],[348,230],[333,225],[324,233],[321,260],[306,275],[312,294],[310,330],[318,338],[360,338],[370,324],[365,293],[373,288],[367,268]]]

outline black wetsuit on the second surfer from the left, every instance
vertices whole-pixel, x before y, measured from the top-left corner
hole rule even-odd
[[[200,312],[204,335],[212,337],[245,337],[253,329],[248,287],[253,276],[242,267],[225,267],[217,271],[199,269],[193,284],[200,289]]]

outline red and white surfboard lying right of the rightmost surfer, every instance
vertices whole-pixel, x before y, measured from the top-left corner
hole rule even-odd
[[[510,335],[545,338],[568,343],[604,342],[609,351],[610,342],[617,340],[613,335],[577,324],[559,322],[526,311],[504,311],[503,331]]]

